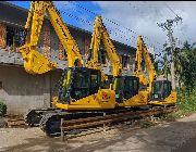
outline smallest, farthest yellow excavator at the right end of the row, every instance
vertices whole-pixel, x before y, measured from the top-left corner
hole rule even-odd
[[[148,78],[142,73],[142,60],[144,59],[148,69]],[[143,89],[146,89],[149,94],[149,105],[172,105],[176,103],[176,92],[171,89],[171,81],[156,80],[157,74],[148,53],[147,47],[142,38],[137,37],[137,52],[136,52],[136,68],[135,75],[139,77],[139,84]]]

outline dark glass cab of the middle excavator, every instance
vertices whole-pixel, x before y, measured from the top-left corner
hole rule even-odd
[[[115,90],[115,101],[123,102],[138,93],[139,79],[135,76],[118,76],[113,81],[113,90]]]

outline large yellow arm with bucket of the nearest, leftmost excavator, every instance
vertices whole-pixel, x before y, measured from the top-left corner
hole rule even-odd
[[[29,40],[26,40],[26,43],[20,48],[25,69],[30,74],[44,74],[58,67],[57,63],[50,62],[37,51],[45,13],[48,14],[59,40],[66,51],[69,67],[82,66],[83,59],[79,54],[78,47],[53,3],[51,1],[33,1],[25,25]]]

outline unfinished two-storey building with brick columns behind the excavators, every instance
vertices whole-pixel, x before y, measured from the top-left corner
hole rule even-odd
[[[23,67],[23,60],[19,47],[24,38],[24,25],[28,10],[0,2],[0,101],[8,105],[9,114],[23,114],[27,109],[49,107],[50,100],[57,93],[56,84],[61,69],[66,67],[66,54],[51,26],[49,18],[45,18],[41,28],[38,50],[51,61],[59,63],[59,69],[42,75],[30,75]],[[76,40],[84,61],[88,54],[91,33],[68,25]],[[123,63],[123,73],[133,72],[135,48],[113,41]],[[105,73],[112,74],[106,51],[102,49],[100,58]]]

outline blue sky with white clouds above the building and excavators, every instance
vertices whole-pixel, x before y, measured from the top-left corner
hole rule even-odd
[[[10,1],[29,9],[30,1]],[[173,36],[182,46],[185,40],[196,41],[196,1],[53,1],[64,23],[93,30],[96,14],[102,16],[112,39],[136,47],[138,35],[144,37],[148,48],[155,47],[161,53],[167,41],[167,30],[157,23],[182,17],[173,24]]]

